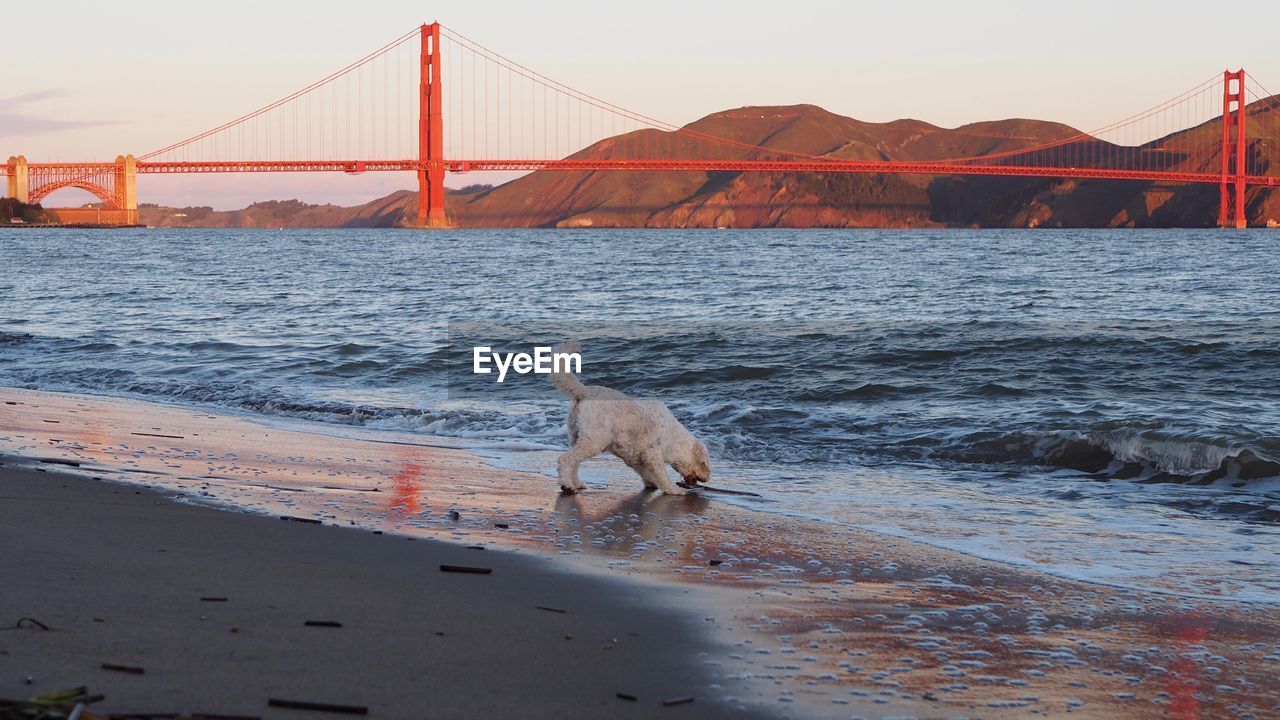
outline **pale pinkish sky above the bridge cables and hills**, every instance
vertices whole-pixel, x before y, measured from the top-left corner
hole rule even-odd
[[[0,159],[142,154],[301,88],[440,20],[548,77],[684,124],[742,105],[810,102],[945,127],[1037,118],[1088,129],[1245,68],[1280,88],[1280,55],[1251,28],[1280,4],[1009,0],[175,3],[59,0],[5,8]],[[1242,29],[1243,28],[1243,29]],[[461,186],[492,179],[451,177]],[[353,205],[411,176],[140,178],[143,202]],[[0,186],[3,191],[3,186]],[[50,205],[88,201],[60,191]]]

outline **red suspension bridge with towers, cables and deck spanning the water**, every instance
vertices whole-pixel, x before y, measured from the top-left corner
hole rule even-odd
[[[1252,135],[1251,135],[1252,133]],[[1091,132],[937,159],[765,147],[677,127],[573,90],[425,24],[275,102],[151,152],[105,163],[0,165],[8,195],[96,196],[137,222],[137,174],[416,173],[417,222],[447,227],[445,173],[476,170],[906,173],[1216,184],[1219,224],[1243,228],[1252,187],[1280,186],[1280,99],[1244,70],[1215,74]],[[101,213],[100,213],[101,215]]]

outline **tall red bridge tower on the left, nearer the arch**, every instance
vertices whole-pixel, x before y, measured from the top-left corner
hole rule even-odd
[[[444,214],[444,86],[440,83],[440,23],[422,26],[419,74],[417,224],[449,227]]]

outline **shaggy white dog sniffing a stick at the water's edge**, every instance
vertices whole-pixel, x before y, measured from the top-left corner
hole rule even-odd
[[[580,347],[577,341],[570,341],[558,351],[577,352]],[[577,479],[577,466],[604,451],[635,470],[646,488],[667,495],[685,495],[685,488],[671,482],[667,465],[689,486],[710,480],[712,460],[707,446],[689,434],[662,402],[634,400],[612,388],[585,386],[572,373],[553,373],[552,382],[573,398],[568,406],[570,448],[556,466],[564,492],[584,488]]]

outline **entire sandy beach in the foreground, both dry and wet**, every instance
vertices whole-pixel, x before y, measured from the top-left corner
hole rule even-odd
[[[265,706],[296,696],[389,717],[1265,717],[1280,702],[1266,605],[1071,582],[705,495],[558,496],[443,438],[0,401],[10,468],[47,470],[3,475],[19,592],[0,621],[56,628],[0,633],[0,696],[90,684],[113,710],[251,716],[296,716]]]

